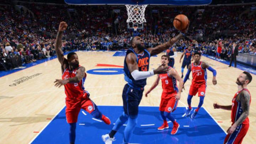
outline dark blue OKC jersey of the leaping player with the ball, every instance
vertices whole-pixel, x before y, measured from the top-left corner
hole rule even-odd
[[[126,57],[129,53],[134,53],[137,57],[137,63],[139,67],[139,71],[148,71],[149,69],[149,59],[150,53],[144,49],[143,54],[137,54],[132,49],[128,49],[126,52]],[[128,82],[128,85],[134,88],[143,88],[146,85],[146,79],[142,80],[134,80],[132,74],[130,73],[127,63],[126,57],[124,58],[124,80]]]

